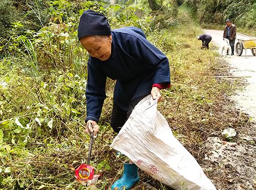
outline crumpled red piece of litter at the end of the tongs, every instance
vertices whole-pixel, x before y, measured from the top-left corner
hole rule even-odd
[[[94,168],[90,165],[81,164],[81,166],[75,170],[75,177],[78,181],[92,180],[94,177]]]

